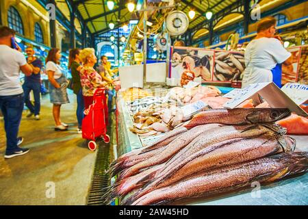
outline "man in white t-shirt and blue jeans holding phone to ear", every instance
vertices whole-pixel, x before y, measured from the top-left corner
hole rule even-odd
[[[5,158],[24,155],[29,151],[29,149],[18,147],[23,141],[22,137],[17,136],[24,105],[19,72],[21,70],[26,76],[29,76],[33,68],[27,64],[14,36],[13,29],[0,27],[0,108],[3,113],[6,133]]]

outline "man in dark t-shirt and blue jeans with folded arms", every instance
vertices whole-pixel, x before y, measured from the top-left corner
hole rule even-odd
[[[42,68],[42,61],[37,57],[34,57],[34,49],[27,47],[25,50],[27,53],[27,62],[33,68],[33,73],[30,76],[25,77],[25,83],[23,83],[23,92],[25,93],[25,104],[29,109],[27,118],[34,115],[36,120],[40,120],[40,70]],[[34,105],[31,103],[29,94],[33,90],[34,93]]]

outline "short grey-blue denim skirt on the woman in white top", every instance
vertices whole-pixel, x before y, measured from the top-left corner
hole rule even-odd
[[[62,84],[67,83],[66,77],[61,76],[59,79],[55,79],[57,83],[62,86]],[[66,86],[63,88],[55,88],[50,82],[49,82],[49,96],[50,96],[50,102],[56,105],[61,105],[64,103],[70,103],[68,100],[68,95],[66,92]]]

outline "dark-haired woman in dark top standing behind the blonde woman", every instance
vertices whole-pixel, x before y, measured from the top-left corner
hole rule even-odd
[[[82,119],[84,118],[84,97],[82,96],[82,88],[79,70],[81,68],[81,60],[79,58],[80,49],[71,49],[68,59],[68,68],[70,68],[70,73],[72,74],[73,81],[73,92],[77,96],[77,110],[76,116],[78,120],[78,133],[82,133]]]

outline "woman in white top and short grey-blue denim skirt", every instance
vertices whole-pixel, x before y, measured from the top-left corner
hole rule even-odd
[[[53,103],[53,119],[55,120],[55,131],[66,131],[68,125],[60,119],[61,105],[69,103],[66,88],[68,85],[66,76],[60,66],[60,49],[51,49],[46,59],[46,71],[49,79],[50,101]]]

